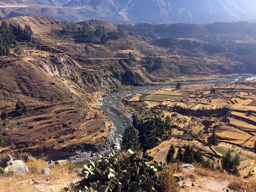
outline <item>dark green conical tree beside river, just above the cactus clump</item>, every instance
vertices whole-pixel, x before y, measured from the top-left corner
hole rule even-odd
[[[139,138],[134,126],[127,126],[122,138],[122,149],[136,148],[139,146]]]

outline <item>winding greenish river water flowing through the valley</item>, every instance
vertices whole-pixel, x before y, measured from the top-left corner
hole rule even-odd
[[[192,83],[186,83],[183,85],[196,86],[196,85],[228,84],[228,83],[241,82],[241,81],[251,81],[254,79],[256,79],[256,75],[253,75],[253,74],[234,74],[233,78],[220,79],[212,82],[207,82],[207,81],[201,81],[197,83],[192,82]],[[117,129],[117,132],[115,135],[115,143],[116,143],[116,146],[114,148],[115,151],[121,150],[122,136],[126,128],[124,124],[127,124],[122,122],[122,120],[117,117],[118,115],[116,116],[113,115],[113,114],[119,113],[119,111],[116,110],[116,106],[118,106],[118,103],[121,102],[122,99],[124,99],[125,97],[132,94],[143,93],[148,90],[163,89],[163,88],[168,88],[173,86],[175,86],[175,84],[142,86],[142,87],[135,87],[130,90],[112,92],[102,96],[102,98],[99,100],[99,108],[108,116],[108,118],[113,123],[113,126],[116,127]],[[109,113],[108,111],[111,111],[112,114]]]

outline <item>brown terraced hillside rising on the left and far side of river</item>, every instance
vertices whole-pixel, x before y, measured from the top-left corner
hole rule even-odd
[[[1,56],[0,109],[10,117],[7,124],[1,121],[1,150],[37,154],[44,148],[49,157],[61,157],[80,149],[105,148],[102,143],[112,145],[111,122],[97,107],[100,94],[148,84],[212,81],[230,72],[255,70],[253,54],[245,57],[227,49],[206,49],[212,46],[214,33],[163,41],[132,31],[121,33],[106,20],[72,24],[46,17],[15,17],[5,22],[22,28],[28,24],[33,34],[31,40],[16,37],[23,47],[21,57],[13,55],[12,49],[9,56]],[[99,26],[108,35],[106,43],[101,35],[90,37]],[[224,37],[218,34],[219,39]],[[237,41],[236,46],[255,49],[251,36],[230,38]],[[18,99],[26,104],[27,113],[15,112]]]

